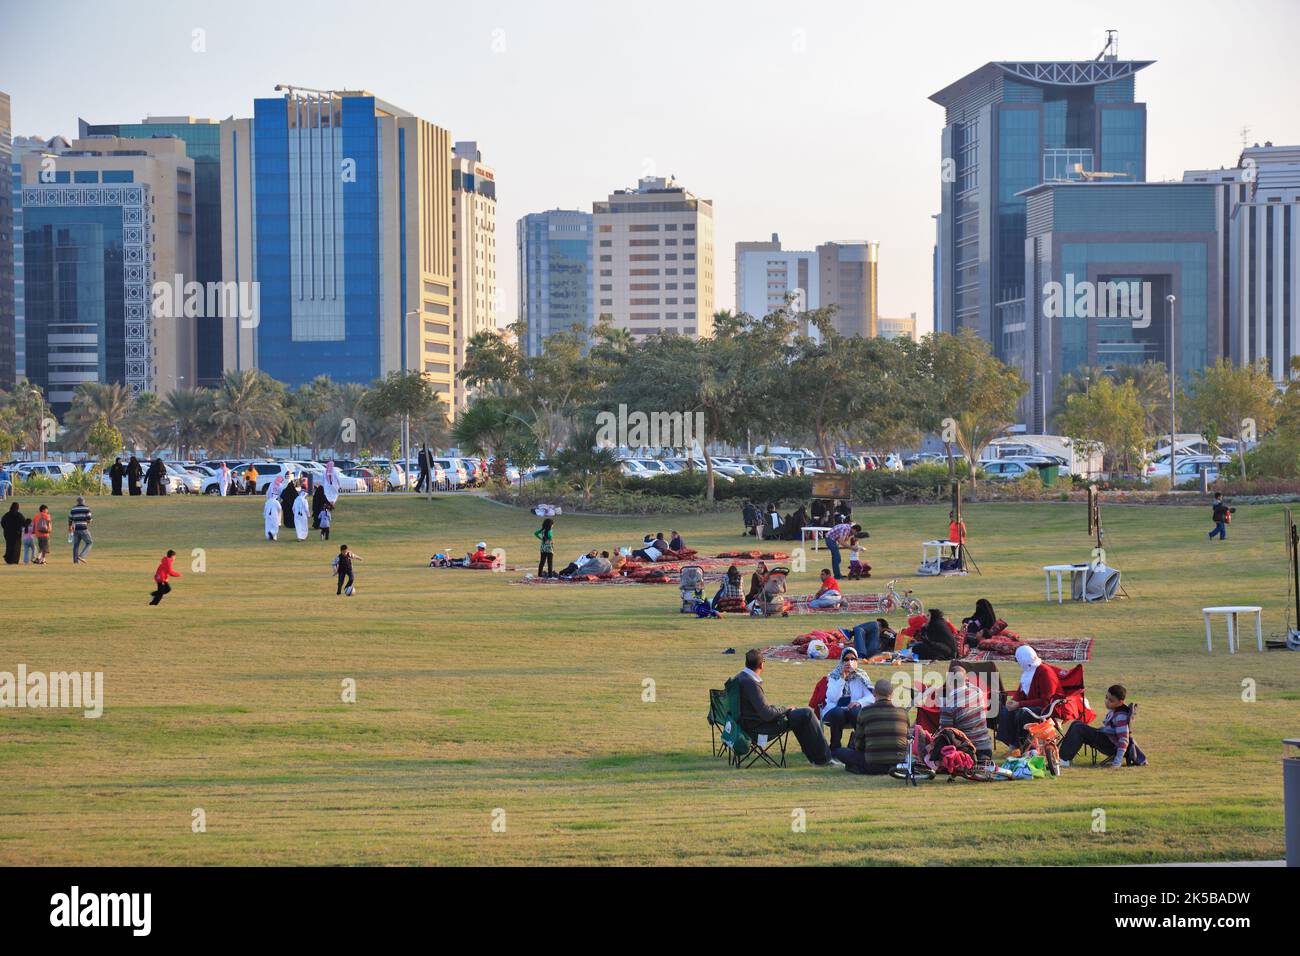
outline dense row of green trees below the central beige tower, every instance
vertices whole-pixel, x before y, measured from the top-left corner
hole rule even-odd
[[[838,334],[831,317],[831,310],[762,319],[720,312],[714,336],[699,339],[636,341],[602,323],[550,336],[537,356],[480,333],[460,373],[477,398],[454,436],[464,450],[516,462],[550,460],[564,449],[556,463],[589,473],[602,463],[593,447],[598,414],[625,405],[702,416],[710,498],[707,442],[780,438],[832,458],[841,445],[892,450],[939,433],[950,457],[954,449],[967,457],[974,477],[979,449],[1017,419],[1027,389],[1019,373],[971,333],[861,338]]]

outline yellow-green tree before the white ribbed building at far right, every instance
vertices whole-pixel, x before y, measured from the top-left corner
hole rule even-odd
[[[1197,431],[1212,445],[1221,434],[1240,442],[1238,455],[1245,479],[1245,442],[1273,428],[1278,416],[1278,389],[1266,363],[1234,365],[1218,359],[1210,368],[1195,368],[1187,381],[1187,410]]]

